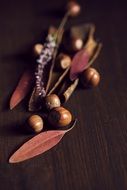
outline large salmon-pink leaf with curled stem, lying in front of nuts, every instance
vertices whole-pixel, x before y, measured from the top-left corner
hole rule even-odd
[[[9,159],[9,163],[22,162],[34,156],[44,153],[60,142],[62,137],[76,124],[73,122],[67,130],[53,130],[42,132],[23,144]]]

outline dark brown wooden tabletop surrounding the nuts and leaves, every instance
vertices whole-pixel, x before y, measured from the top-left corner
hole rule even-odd
[[[10,155],[31,136],[21,126],[29,113],[9,98],[31,60],[27,51],[49,25],[58,26],[67,1],[0,1],[0,190],[127,189],[126,1],[80,1],[82,13],[68,25],[94,22],[103,51],[95,62],[101,83],[78,90],[67,107],[76,127],[52,150],[20,164]]]

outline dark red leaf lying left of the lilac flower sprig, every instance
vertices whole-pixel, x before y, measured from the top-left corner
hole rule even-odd
[[[11,97],[10,109],[13,109],[25,98],[32,87],[33,81],[33,72],[25,71]]]

